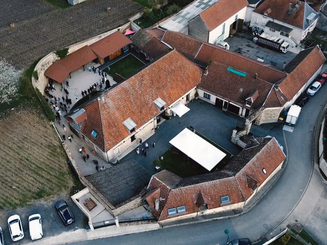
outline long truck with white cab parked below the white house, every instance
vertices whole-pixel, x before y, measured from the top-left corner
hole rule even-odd
[[[255,36],[253,38],[253,42],[258,44],[259,46],[270,48],[271,50],[282,52],[284,54],[288,51],[288,48],[290,46],[290,44],[284,39],[268,35],[264,32],[260,36]]]

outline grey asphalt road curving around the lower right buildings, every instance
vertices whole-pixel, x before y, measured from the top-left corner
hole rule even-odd
[[[327,85],[324,85],[303,107],[294,132],[284,132],[287,144],[281,143],[286,146],[285,151],[288,150],[288,164],[275,185],[249,212],[235,218],[73,244],[225,244],[225,229],[229,230],[230,239],[249,237],[257,240],[265,236],[293,211],[310,181],[313,131],[318,115],[327,103],[326,93]],[[278,127],[276,132],[279,139],[281,130]],[[271,131],[270,135],[274,134],[274,130]],[[325,227],[320,230],[318,227],[312,235],[319,239],[319,234],[324,232]]]

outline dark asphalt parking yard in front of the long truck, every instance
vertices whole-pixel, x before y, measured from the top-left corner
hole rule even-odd
[[[283,69],[284,62],[290,62],[295,53],[288,51],[286,54],[279,53],[268,48],[256,45],[252,41],[252,34],[240,33],[237,36],[229,37],[225,41],[229,44],[229,50],[249,57],[253,60],[264,60],[265,64],[270,64],[277,69]]]

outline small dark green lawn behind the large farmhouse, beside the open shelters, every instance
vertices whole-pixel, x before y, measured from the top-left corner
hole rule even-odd
[[[107,74],[109,74],[111,77],[117,73],[124,78],[128,78],[144,65],[145,64],[142,61],[136,59],[133,55],[128,55],[110,65],[110,70],[105,68],[104,71],[107,72]]]

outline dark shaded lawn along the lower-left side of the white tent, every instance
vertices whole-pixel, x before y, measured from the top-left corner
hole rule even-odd
[[[153,165],[159,165],[162,170],[167,169],[182,178],[209,173],[204,167],[189,159],[184,154],[178,153],[174,148],[169,149],[162,157],[164,157],[164,160],[155,160]]]

